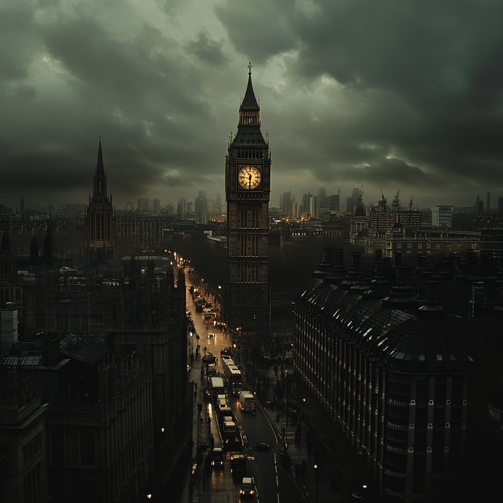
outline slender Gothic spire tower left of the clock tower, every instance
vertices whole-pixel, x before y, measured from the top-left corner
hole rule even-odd
[[[89,266],[113,263],[115,260],[115,212],[112,196],[108,196],[107,174],[103,151],[98,146],[98,162],[93,179],[93,196],[86,210],[86,259]]]

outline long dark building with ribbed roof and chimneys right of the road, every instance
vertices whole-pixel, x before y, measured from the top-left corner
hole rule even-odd
[[[384,279],[382,261],[367,279],[359,254],[352,255],[346,272],[342,250],[332,267],[325,248],[323,263],[297,296],[296,371],[384,494],[407,503],[456,500],[469,374],[498,338],[499,311],[492,319],[448,315],[437,300],[438,282],[428,282],[426,298],[418,300],[403,281],[405,266],[397,267],[393,285]]]

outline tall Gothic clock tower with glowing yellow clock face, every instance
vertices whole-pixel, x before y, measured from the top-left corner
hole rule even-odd
[[[227,200],[227,322],[252,335],[269,328],[267,283],[271,154],[260,130],[251,84],[239,107],[236,135],[225,162]]]

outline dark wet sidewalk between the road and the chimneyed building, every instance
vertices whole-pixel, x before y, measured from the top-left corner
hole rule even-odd
[[[293,376],[293,367],[283,367],[286,374],[279,368],[276,375],[272,367],[255,369],[242,351],[240,360],[250,390],[257,389],[258,401],[281,436],[286,437],[283,468],[304,489],[308,501],[349,501],[350,488],[369,483],[366,467],[351,441],[307,386]],[[288,376],[288,400],[282,399],[282,375]]]

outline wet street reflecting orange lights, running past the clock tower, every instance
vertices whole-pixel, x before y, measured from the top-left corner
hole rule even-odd
[[[217,360],[217,372],[222,372],[220,363],[220,350],[232,345],[232,339],[226,337],[223,330],[215,328],[213,325],[206,326],[201,313],[196,313],[196,306],[192,300],[189,289],[192,285],[201,286],[201,281],[194,276],[186,275],[187,282],[187,309],[192,312],[194,328],[199,334],[197,340],[195,334],[188,337],[188,353],[196,351],[197,344],[200,345],[199,355],[206,352],[212,353]],[[202,294],[206,292],[203,290]],[[206,295],[205,295],[206,297]],[[209,300],[214,302],[210,295]],[[219,306],[217,306],[219,307]],[[216,337],[208,337],[207,333],[216,333]],[[206,348],[206,350],[204,350]],[[243,365],[238,358],[237,365],[243,373]],[[220,432],[217,426],[217,417],[214,405],[205,397],[207,388],[206,378],[202,375],[201,357],[194,359],[190,381],[197,383],[197,393],[194,403],[194,449],[193,456],[198,458],[197,444],[209,443],[210,435],[213,434],[215,447],[221,445]],[[272,383],[271,383],[272,385]],[[247,389],[243,380],[243,390]],[[253,390],[251,390],[253,391]],[[202,404],[201,412],[197,404]],[[246,477],[253,477],[257,488],[257,495],[254,500],[258,503],[301,503],[305,499],[298,486],[289,474],[283,470],[280,462],[280,444],[278,444],[277,434],[270,424],[270,418],[262,411],[261,407],[256,408],[255,413],[244,412],[238,406],[235,396],[229,395],[229,406],[232,408],[239,423],[243,448],[241,452],[248,458],[246,465]],[[211,418],[208,422],[207,417]],[[201,422],[201,418],[203,421]],[[269,450],[259,451],[254,445],[257,443],[269,444]],[[242,476],[232,478],[230,473],[230,456],[233,452],[226,452],[223,469],[203,470],[204,460],[209,450],[202,452],[198,459],[198,468],[195,475],[192,475],[192,465],[187,466],[187,474],[184,479],[183,489],[177,494],[176,501],[185,503],[187,501],[200,502],[238,502],[239,488]]]

